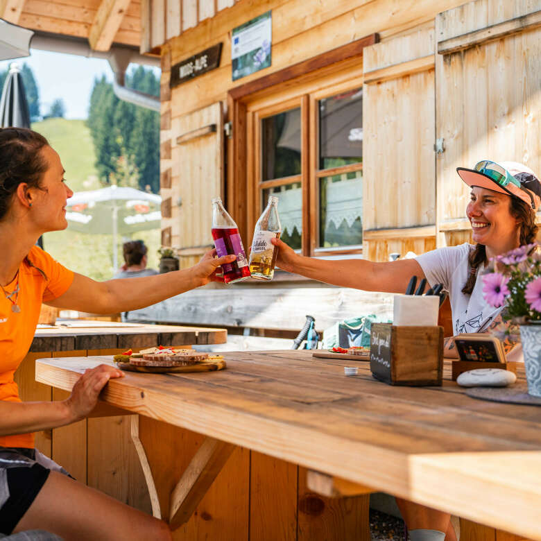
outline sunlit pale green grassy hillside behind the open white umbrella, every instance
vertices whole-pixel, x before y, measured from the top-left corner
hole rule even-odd
[[[47,119],[33,123],[32,128],[44,135],[60,155],[67,184],[73,191],[101,187],[94,166],[94,145],[85,121]],[[160,230],[141,231],[134,238],[144,240],[148,246],[148,266],[157,268],[156,250],[160,248]],[[112,235],[55,231],[44,235],[44,246],[47,252],[72,271],[94,280],[108,280],[113,275]],[[119,264],[123,263],[121,248],[120,243]]]

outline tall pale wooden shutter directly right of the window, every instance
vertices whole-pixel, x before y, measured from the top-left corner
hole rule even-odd
[[[363,253],[435,247],[434,29],[363,52]]]

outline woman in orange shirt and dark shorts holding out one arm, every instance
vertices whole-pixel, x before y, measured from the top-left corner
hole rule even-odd
[[[194,267],[95,282],[35,246],[67,227],[73,192],[60,157],[31,130],[0,129],[0,533],[41,529],[66,540],[169,540],[169,526],[70,479],[34,449],[33,432],[85,418],[112,366],[87,370],[63,402],[21,402],[13,375],[31,345],[42,302],[94,314],[135,310],[203,286],[234,256],[207,252]]]

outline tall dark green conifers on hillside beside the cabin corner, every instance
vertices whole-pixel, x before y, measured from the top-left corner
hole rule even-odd
[[[160,94],[160,80],[144,67],[127,74],[126,86],[154,96]],[[139,189],[148,186],[154,193],[160,190],[160,114],[120,101],[103,76],[94,80],[87,124],[102,184],[108,185],[113,179],[125,182],[126,175],[119,175],[119,166],[133,166]]]

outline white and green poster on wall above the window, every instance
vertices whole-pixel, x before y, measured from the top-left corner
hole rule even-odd
[[[273,22],[271,12],[233,28],[231,60],[233,80],[271,65]]]

